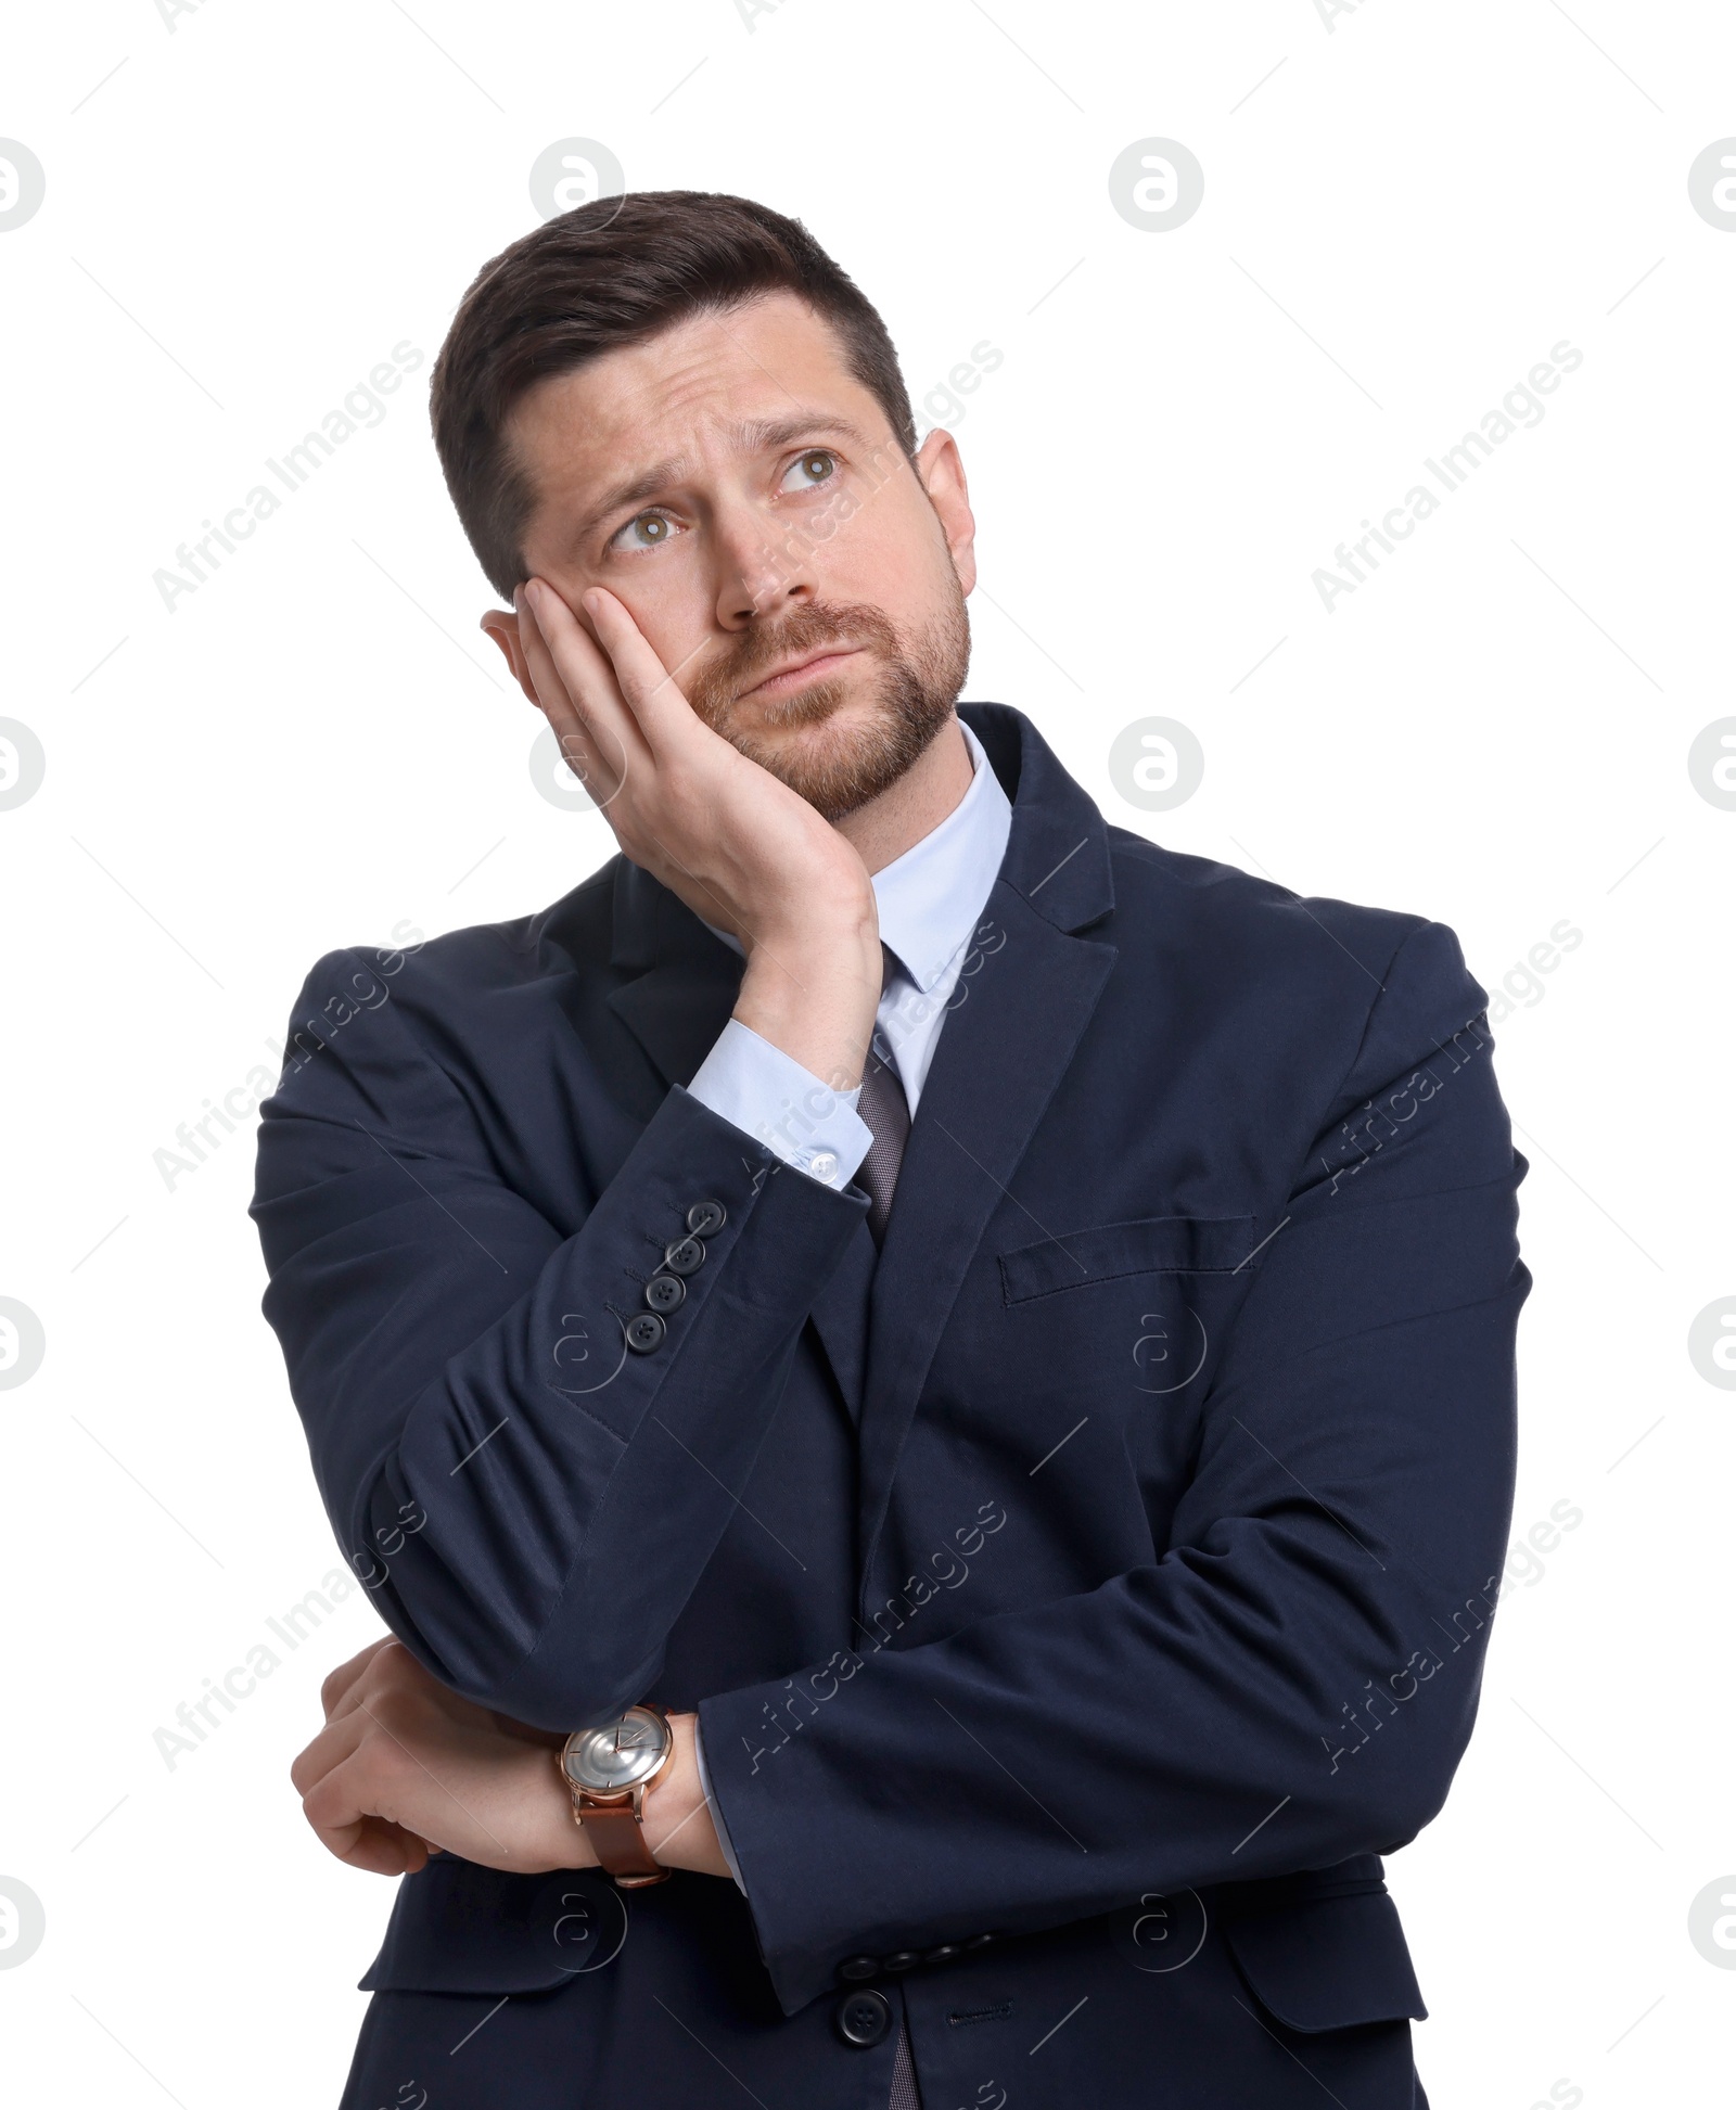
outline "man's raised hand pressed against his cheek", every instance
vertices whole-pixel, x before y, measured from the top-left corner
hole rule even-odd
[[[740,939],[734,1015],[852,1091],[882,985],[873,884],[854,846],[698,717],[607,589],[582,597],[595,637],[546,580],[527,580],[515,608],[538,705],[622,852]]]

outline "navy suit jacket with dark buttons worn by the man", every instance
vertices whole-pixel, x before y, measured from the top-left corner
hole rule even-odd
[[[928,2110],[1422,2099],[1377,1857],[1470,1734],[1529,1285],[1485,994],[962,715],[1012,836],[877,1255],[683,1089],[740,958],[620,857],[302,990],[253,1217],[337,1538],[485,1707],[698,1707],[747,1882],[432,1861],[356,2110],[884,2106],[852,1983]]]

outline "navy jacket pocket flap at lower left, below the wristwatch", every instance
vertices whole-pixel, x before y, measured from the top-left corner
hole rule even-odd
[[[363,1992],[544,1992],[607,1964],[626,1905],[607,1876],[508,1876],[437,1855],[405,1876]]]

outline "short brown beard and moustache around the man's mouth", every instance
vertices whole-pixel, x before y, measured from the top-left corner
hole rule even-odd
[[[871,654],[867,717],[833,726],[831,736],[780,741],[818,728],[850,701],[852,682],[814,682],[768,701],[753,728],[734,724],[736,698],[780,660],[827,646]],[[901,637],[880,608],[810,601],[780,622],[747,629],[721,658],[683,682],[694,711],[749,762],[789,785],[827,821],[842,821],[888,791],[928,751],[951,717],[970,665],[970,618],[951,578],[941,614],[918,635]],[[861,677],[856,677],[861,679]]]

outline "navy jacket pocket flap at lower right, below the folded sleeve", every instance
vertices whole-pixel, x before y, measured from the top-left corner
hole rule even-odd
[[[1399,1907],[1386,1891],[1312,1897],[1223,1922],[1259,2004],[1291,2030],[1424,2021]]]

